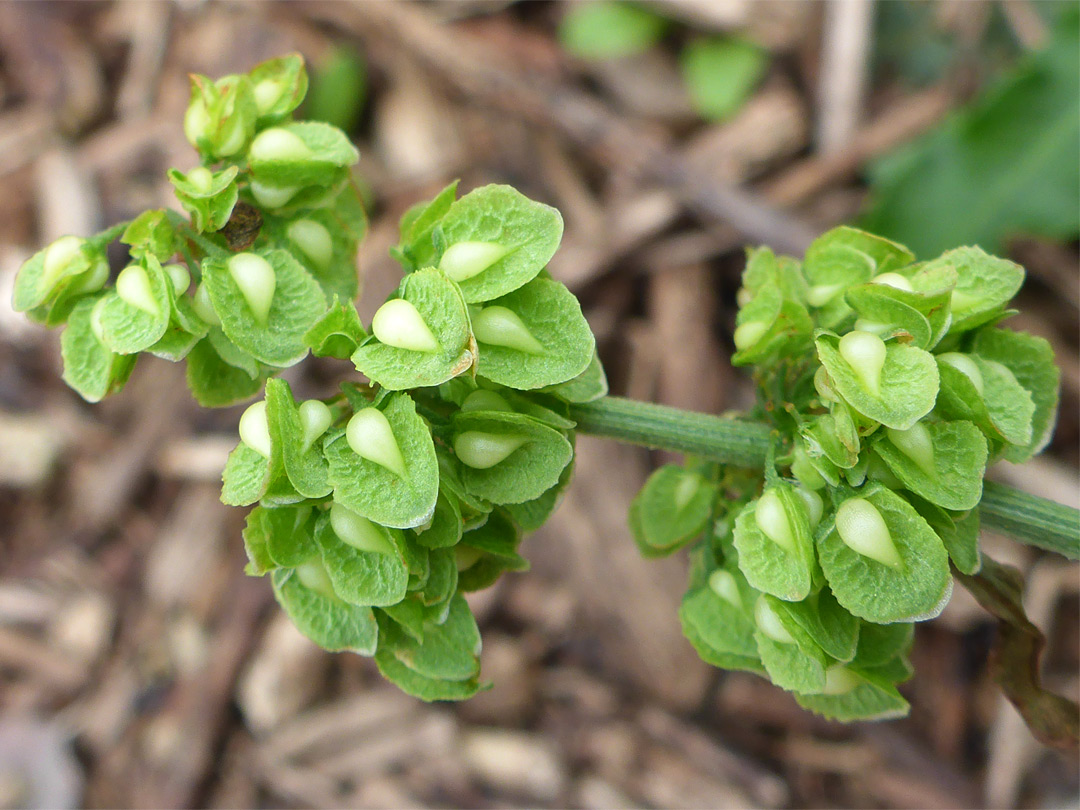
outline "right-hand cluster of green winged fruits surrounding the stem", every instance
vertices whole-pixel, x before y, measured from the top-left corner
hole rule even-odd
[[[1023,280],[977,247],[916,262],[847,227],[801,262],[750,252],[733,362],[754,368],[770,462],[664,467],[631,508],[648,555],[704,538],[680,609],[704,660],[828,717],[907,711],[913,623],[948,602],[950,563],[980,567],[987,463],[1053,429],[1049,343],[997,326]]]

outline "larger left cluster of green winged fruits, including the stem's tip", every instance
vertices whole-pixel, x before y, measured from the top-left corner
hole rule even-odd
[[[544,271],[563,220],[507,186],[409,210],[392,254],[405,276],[367,328],[356,247],[366,230],[339,130],[294,123],[299,56],[216,82],[193,77],[184,129],[201,164],[170,172],[189,214],[149,211],[21,269],[16,309],[62,337],[65,379],[89,401],[141,352],[187,361],[203,405],[265,397],[240,420],[221,500],[255,505],[247,571],[270,573],[299,630],[374,656],[424,700],[481,688],[463,593],[528,567],[522,532],[572,470],[569,404],[607,392],[575,296]],[[131,264],[108,285],[106,247]],[[297,402],[274,378],[309,353],[368,382]]]

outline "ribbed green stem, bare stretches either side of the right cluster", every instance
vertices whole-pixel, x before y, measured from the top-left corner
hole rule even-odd
[[[578,430],[630,444],[677,450],[737,467],[761,468],[771,431],[760,422],[679,410],[605,396],[572,405]],[[1080,558],[1080,512],[988,481],[980,503],[983,523],[1028,545]]]

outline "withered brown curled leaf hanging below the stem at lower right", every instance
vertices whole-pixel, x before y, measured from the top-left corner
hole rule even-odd
[[[1010,566],[985,558],[976,576],[960,581],[998,619],[998,638],[990,652],[990,673],[1024,723],[1044,745],[1076,748],[1080,739],[1077,704],[1042,688],[1039,659],[1047,644],[1024,612],[1024,579]]]

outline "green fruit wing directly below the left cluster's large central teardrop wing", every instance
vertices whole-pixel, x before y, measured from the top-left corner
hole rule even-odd
[[[346,543],[334,532],[328,512],[320,515],[315,541],[338,596],[351,605],[396,605],[405,598],[408,584],[408,570],[397,551],[401,538],[395,538],[396,532],[391,529],[372,525],[386,536],[394,553],[363,551]]]

